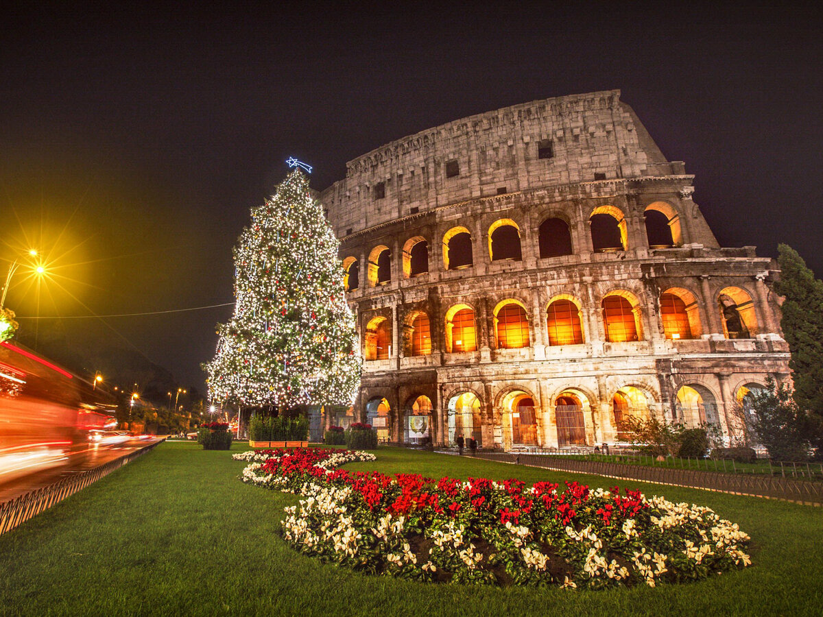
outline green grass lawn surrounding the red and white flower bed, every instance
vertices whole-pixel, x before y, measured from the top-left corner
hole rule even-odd
[[[235,444],[235,450],[247,449]],[[615,480],[400,448],[351,469]],[[752,537],[754,565],[694,584],[616,591],[463,587],[369,577],[281,540],[295,495],[244,485],[243,462],[164,443],[0,536],[0,615],[821,615],[823,510],[620,482],[702,503]]]

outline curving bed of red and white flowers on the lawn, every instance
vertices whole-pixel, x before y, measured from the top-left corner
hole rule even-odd
[[[253,451],[249,451],[253,452]],[[243,480],[304,496],[283,536],[305,554],[402,578],[618,587],[686,582],[751,564],[737,524],[709,508],[567,482],[526,486],[337,469],[368,452],[235,454]]]

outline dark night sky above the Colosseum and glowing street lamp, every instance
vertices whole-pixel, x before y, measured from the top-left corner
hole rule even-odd
[[[4,9],[0,258],[36,244],[54,273],[39,291],[17,276],[7,305],[21,316],[230,302],[230,249],[289,155],[314,165],[321,189],[398,137],[611,89],[696,174],[721,244],[775,255],[786,242],[823,273],[823,24],[811,4],[116,4]],[[229,314],[40,329],[128,340],[188,385],[202,383]]]

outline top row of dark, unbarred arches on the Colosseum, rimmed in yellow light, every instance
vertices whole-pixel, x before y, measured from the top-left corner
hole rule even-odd
[[[677,211],[667,202],[654,202],[646,207],[644,225],[651,248],[679,246],[681,229]],[[617,206],[598,206],[589,217],[593,250],[597,253],[628,250],[628,229],[625,215]],[[560,217],[543,220],[537,230],[538,252],[541,258],[571,255],[574,252],[569,222]],[[492,262],[520,261],[521,230],[512,219],[495,220],[488,230],[488,253]],[[461,270],[474,264],[472,233],[455,226],[443,236],[443,266],[445,270]],[[402,247],[402,271],[405,278],[429,271],[429,243],[421,235],[407,239]],[[360,288],[360,263],[356,257],[343,260],[347,291]],[[380,244],[372,248],[367,262],[366,280],[370,287],[385,285],[392,280],[392,252]]]

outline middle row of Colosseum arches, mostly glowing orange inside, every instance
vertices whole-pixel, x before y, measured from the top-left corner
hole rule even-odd
[[[600,302],[605,341],[644,340],[642,308],[636,295],[614,290]],[[718,318],[728,338],[749,338],[757,332],[754,303],[739,287],[726,287],[717,296]],[[519,299],[504,299],[493,312],[494,343],[497,349],[522,349],[532,344],[528,311]],[[583,305],[572,295],[560,294],[546,307],[546,330],[543,340],[548,346],[583,345],[587,340]],[[689,290],[672,287],[659,296],[659,316],[663,335],[673,341],[696,339],[703,334],[700,308]],[[403,355],[429,355],[432,350],[430,316],[423,310],[407,315],[403,328]],[[445,312],[444,344],[446,353],[466,353],[478,348],[475,309],[469,304],[453,304]],[[379,315],[365,327],[365,360],[386,360],[393,340],[390,318]]]

